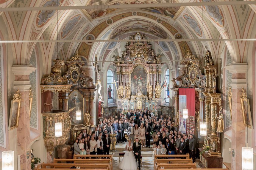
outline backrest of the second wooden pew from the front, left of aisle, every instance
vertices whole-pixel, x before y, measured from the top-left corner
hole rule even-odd
[[[108,163],[111,159],[53,159],[53,163],[73,162],[73,163]]]

